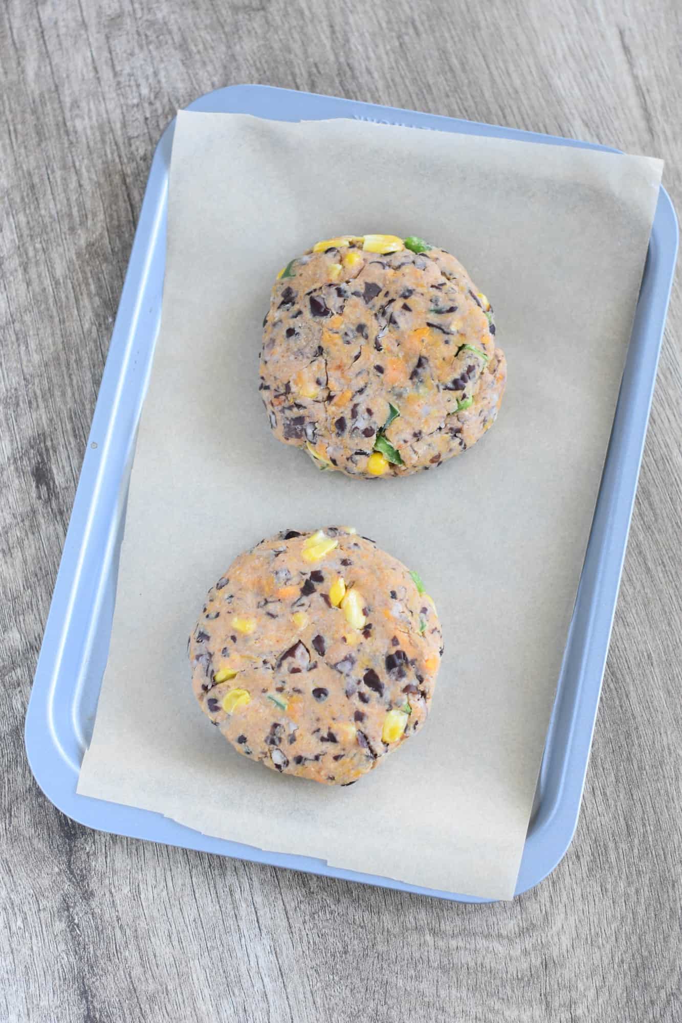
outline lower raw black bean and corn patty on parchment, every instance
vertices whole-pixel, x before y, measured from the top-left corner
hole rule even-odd
[[[239,753],[350,785],[423,724],[441,642],[417,573],[354,529],[329,527],[240,554],[188,651],[195,695]]]

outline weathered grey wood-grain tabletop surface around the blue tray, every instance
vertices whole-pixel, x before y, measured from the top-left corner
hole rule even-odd
[[[552,6],[1,5],[0,1019],[682,1018],[679,285],[583,812],[537,889],[450,904],[94,833],[45,800],[24,754],[146,174],[176,107],[261,82],[591,139],[663,157],[682,208],[678,0]]]

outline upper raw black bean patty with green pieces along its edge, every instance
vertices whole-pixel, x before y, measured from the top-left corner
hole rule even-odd
[[[420,238],[318,241],[272,287],[261,395],[278,440],[321,469],[432,469],[495,422],[506,376],[489,302]]]

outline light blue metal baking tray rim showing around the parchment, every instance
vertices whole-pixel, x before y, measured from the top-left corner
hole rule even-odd
[[[269,86],[218,89],[196,100],[188,109],[252,114],[280,121],[353,118],[545,145],[607,149],[574,139]],[[109,652],[129,470],[161,317],[173,129],[174,122],[164,132],[152,163],[36,668],[26,719],[31,768],[55,806],[100,831],[445,899],[488,901],[330,866],[323,859],[210,838],[159,813],[76,793]],[[556,866],[578,821],[677,242],[675,212],[662,188],[516,894],[538,884]]]

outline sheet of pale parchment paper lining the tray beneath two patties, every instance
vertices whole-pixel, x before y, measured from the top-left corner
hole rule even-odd
[[[80,793],[512,896],[660,173],[646,158],[354,121],[178,115],[161,335]],[[279,444],[257,392],[278,270],[318,238],[368,232],[455,253],[509,361],[475,448],[372,483]],[[196,705],[185,659],[206,591],[241,550],[340,522],[421,573],[445,639],[424,731],[347,789],[239,757]]]

